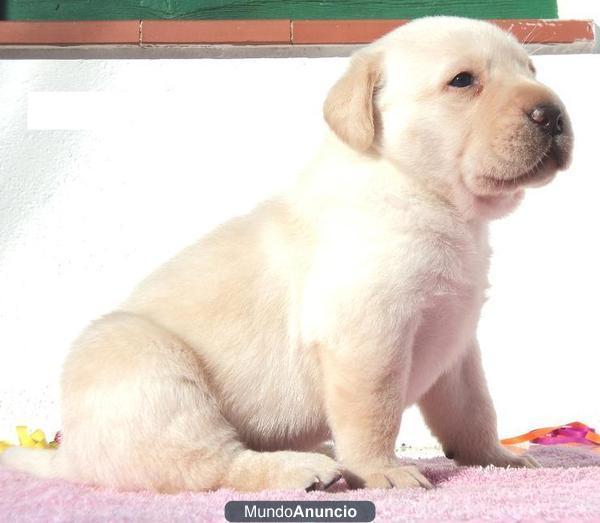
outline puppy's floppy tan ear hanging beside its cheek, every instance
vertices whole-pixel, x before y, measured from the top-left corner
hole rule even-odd
[[[329,91],[323,106],[329,127],[359,152],[365,152],[375,140],[373,93],[380,77],[377,55],[355,55],[344,76]]]

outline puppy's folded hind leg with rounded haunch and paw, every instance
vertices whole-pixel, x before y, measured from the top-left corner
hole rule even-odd
[[[114,313],[75,342],[63,374],[67,477],[162,492],[319,488],[339,477],[316,453],[255,452],[221,415],[201,362],[179,338]]]

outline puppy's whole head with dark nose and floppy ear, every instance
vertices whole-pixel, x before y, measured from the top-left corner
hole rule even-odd
[[[481,21],[423,18],[362,49],[324,114],[353,149],[488,210],[517,203],[571,157],[564,105],[523,47]]]

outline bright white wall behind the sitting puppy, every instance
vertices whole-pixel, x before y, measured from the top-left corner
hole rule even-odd
[[[59,428],[60,364],[82,326],[293,179],[321,139],[320,104],[344,62],[0,61],[0,439],[19,423]],[[600,56],[536,62],[571,109],[577,146],[572,169],[493,230],[480,336],[504,435],[600,424]],[[55,91],[112,94],[71,113],[52,114],[60,100],[32,105],[37,126],[89,111],[91,129],[28,129],[30,95]],[[108,126],[105,109],[92,111],[106,96],[125,100]],[[414,412],[402,435],[428,441]]]

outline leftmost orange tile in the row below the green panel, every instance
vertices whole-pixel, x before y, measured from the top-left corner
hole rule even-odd
[[[138,20],[1,21],[0,44],[137,44]]]

